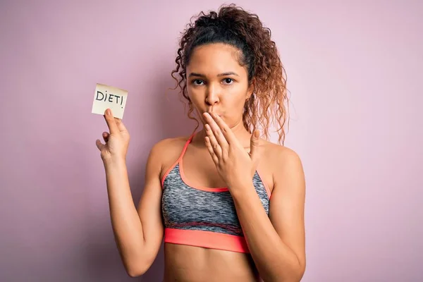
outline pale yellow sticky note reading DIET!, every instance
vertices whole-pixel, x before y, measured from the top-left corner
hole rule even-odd
[[[123,118],[127,98],[128,91],[97,83],[91,112],[104,115],[106,109],[111,109],[115,118]]]

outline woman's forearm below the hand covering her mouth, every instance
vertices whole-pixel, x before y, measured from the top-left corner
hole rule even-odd
[[[300,281],[302,267],[298,257],[276,233],[254,186],[232,188],[231,193],[260,276],[264,281]]]

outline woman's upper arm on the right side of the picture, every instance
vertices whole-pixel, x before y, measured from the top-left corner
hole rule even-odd
[[[283,147],[274,173],[269,217],[283,243],[305,270],[305,176],[298,154]]]

